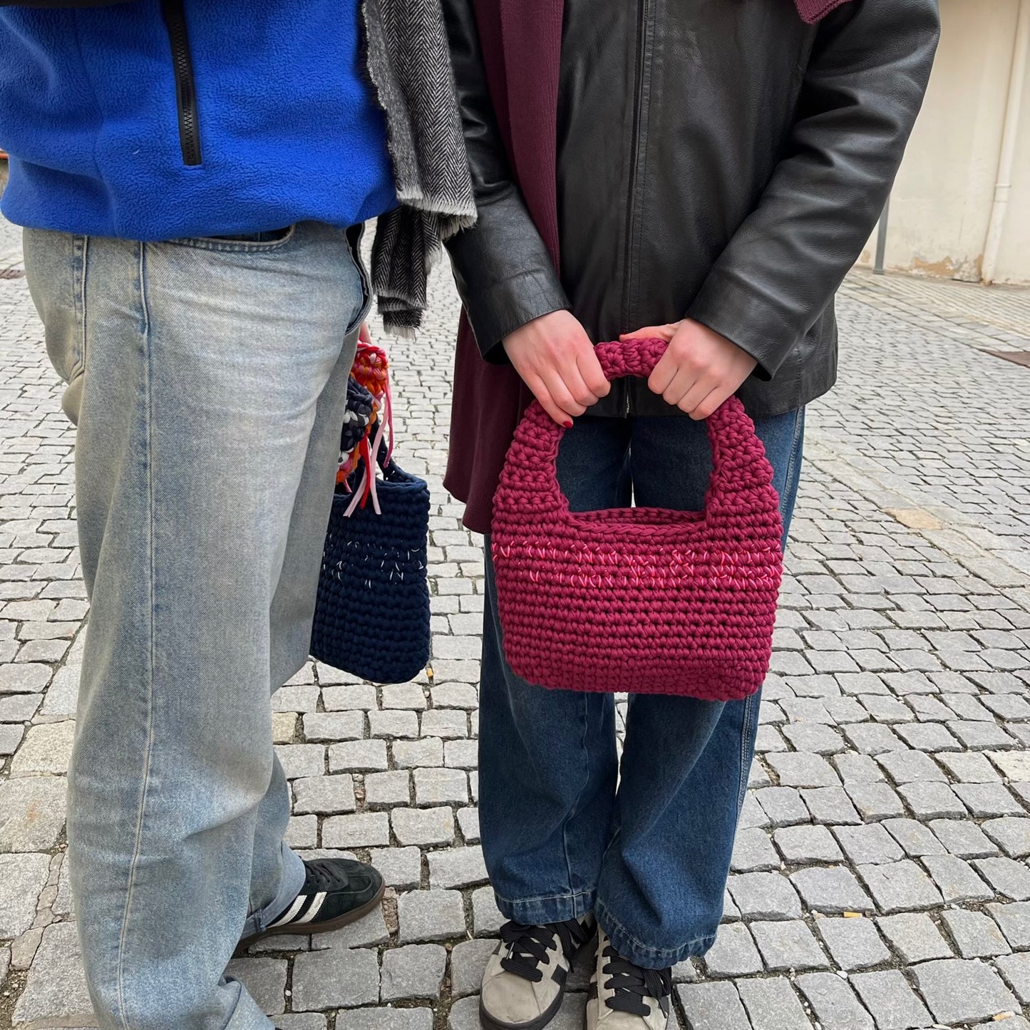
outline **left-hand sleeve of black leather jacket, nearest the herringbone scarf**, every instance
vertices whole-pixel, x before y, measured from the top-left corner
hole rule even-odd
[[[547,247],[512,181],[483,70],[472,0],[443,0],[479,219],[447,243],[479,349],[507,360],[502,341],[569,307]]]

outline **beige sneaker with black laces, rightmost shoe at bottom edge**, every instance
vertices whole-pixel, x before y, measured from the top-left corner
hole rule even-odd
[[[586,1030],[665,1030],[673,970],[643,969],[597,932],[597,964],[586,996]]]

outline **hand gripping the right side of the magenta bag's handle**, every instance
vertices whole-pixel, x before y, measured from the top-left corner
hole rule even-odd
[[[667,340],[648,386],[691,418],[708,418],[755,370],[746,350],[690,318],[648,325],[620,340]]]

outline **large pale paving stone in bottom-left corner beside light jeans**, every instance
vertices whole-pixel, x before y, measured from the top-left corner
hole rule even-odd
[[[84,1027],[95,1024],[85,989],[78,931],[74,923],[52,923],[14,1005],[14,1024]]]

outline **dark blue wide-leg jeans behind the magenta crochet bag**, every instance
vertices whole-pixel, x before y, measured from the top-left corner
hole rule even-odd
[[[804,411],[759,419],[784,537]],[[703,506],[712,456],[689,418],[582,418],[558,454],[574,511]],[[622,761],[610,694],[545,690],[505,660],[489,547],[480,686],[480,825],[497,905],[519,923],[591,909],[627,958],[661,969],[702,955],[722,918],[759,695],[630,694]]]

